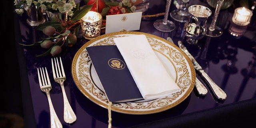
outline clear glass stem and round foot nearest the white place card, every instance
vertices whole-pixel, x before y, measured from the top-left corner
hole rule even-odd
[[[153,24],[154,27],[161,32],[171,32],[175,29],[175,24],[168,20],[168,13],[170,10],[171,2],[172,0],[166,0],[164,19],[156,20]]]

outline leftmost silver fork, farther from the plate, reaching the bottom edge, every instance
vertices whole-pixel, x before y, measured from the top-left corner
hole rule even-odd
[[[47,72],[46,68],[45,68],[45,71],[46,71],[46,73],[44,73],[44,68],[40,68],[40,72],[39,72],[39,69],[37,68],[40,88],[43,92],[46,93],[46,96],[47,96],[47,99],[49,102],[51,128],[62,128],[62,124],[53,108],[53,105],[52,105],[52,100],[50,97],[50,90],[52,89],[52,85],[50,83],[50,79],[49,79],[48,72]]]

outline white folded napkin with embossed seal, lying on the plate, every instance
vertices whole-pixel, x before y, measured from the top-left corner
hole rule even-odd
[[[114,38],[114,42],[145,100],[161,98],[181,90],[154,53],[145,35]]]

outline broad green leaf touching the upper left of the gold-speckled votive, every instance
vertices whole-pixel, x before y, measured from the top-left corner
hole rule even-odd
[[[82,9],[74,12],[74,15],[72,16],[71,20],[73,21],[80,20],[87,12],[91,10],[91,8],[92,8],[92,5],[85,5]]]

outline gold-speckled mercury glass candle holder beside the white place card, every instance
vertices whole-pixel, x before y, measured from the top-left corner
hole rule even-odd
[[[100,36],[102,15],[98,12],[89,11],[80,19],[81,30],[84,38],[92,40]]]

